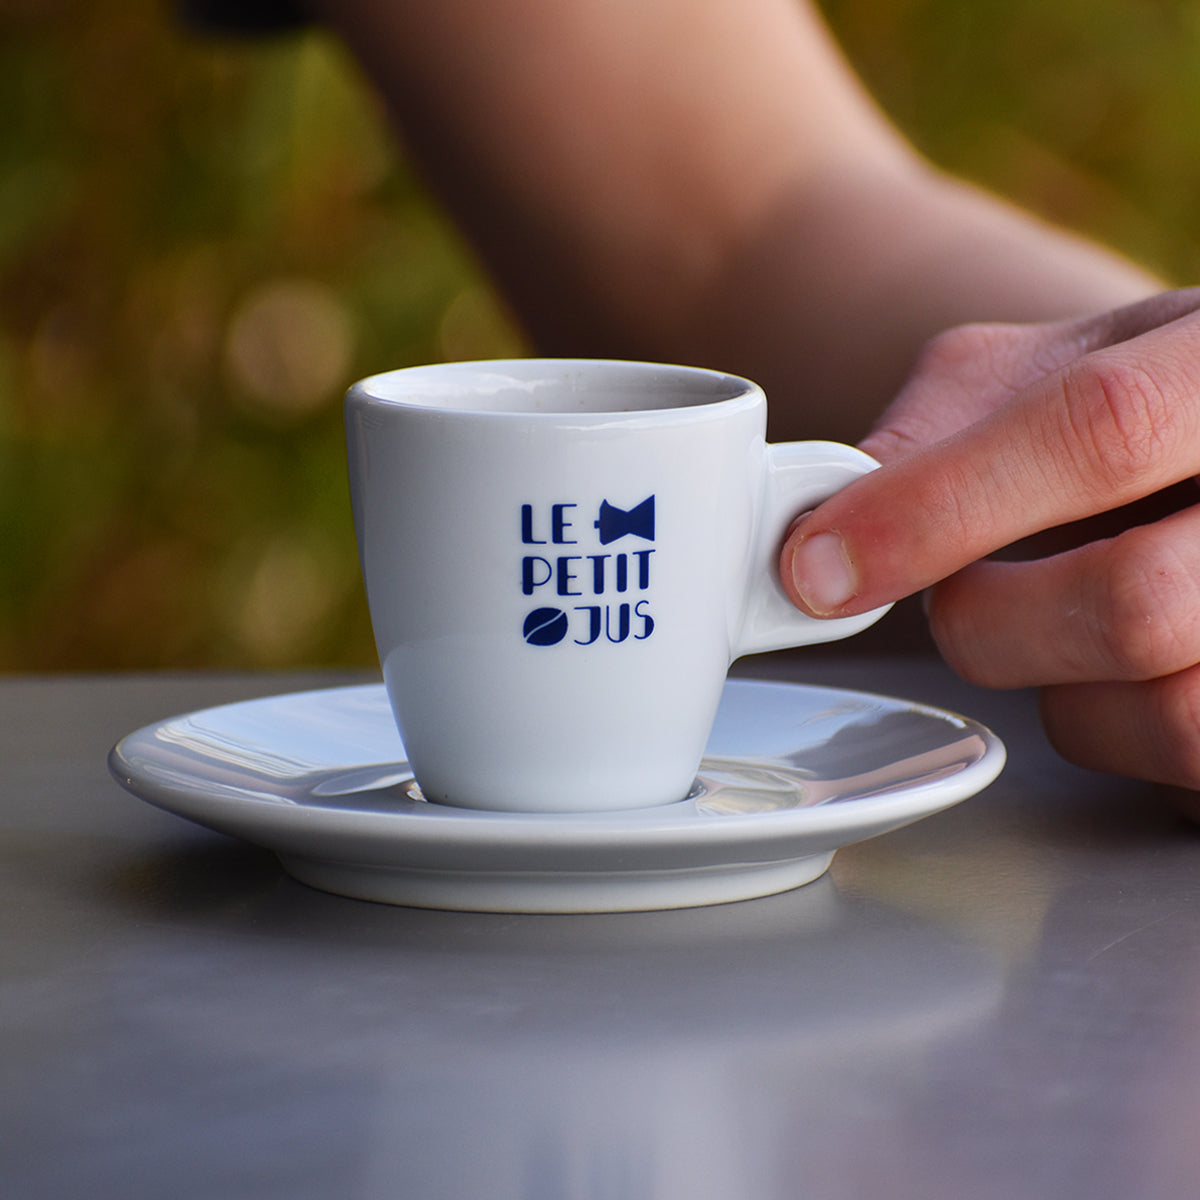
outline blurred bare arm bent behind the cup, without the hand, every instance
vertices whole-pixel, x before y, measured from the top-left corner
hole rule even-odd
[[[749,374],[854,437],[952,324],[1152,287],[929,170],[794,0],[319,0],[547,353]]]

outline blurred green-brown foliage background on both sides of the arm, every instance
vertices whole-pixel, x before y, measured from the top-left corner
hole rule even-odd
[[[828,0],[935,161],[1200,277],[1200,6]],[[331,40],[0,0],[0,670],[374,661],[341,395],[521,353]]]

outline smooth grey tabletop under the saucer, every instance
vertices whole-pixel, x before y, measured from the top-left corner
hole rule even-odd
[[[326,676],[0,680],[0,1194],[1200,1195],[1200,836],[925,659],[744,674],[991,725],[983,796],[784,895],[494,916],[325,895],[108,776]]]

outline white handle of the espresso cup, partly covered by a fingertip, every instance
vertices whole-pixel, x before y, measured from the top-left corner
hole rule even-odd
[[[870,455],[836,442],[767,445],[762,506],[748,562],[742,629],[734,640],[733,658],[850,637],[874,625],[892,607],[818,620],[802,613],[779,581],[779,552],[792,521],[876,467]]]

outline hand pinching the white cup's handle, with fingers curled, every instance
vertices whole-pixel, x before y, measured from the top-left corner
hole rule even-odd
[[[1040,686],[1064,757],[1200,790],[1200,289],[943,334],[862,444],[883,467],[788,533],[793,602],[931,588],[950,666]],[[988,557],[1018,542],[1054,552]]]

